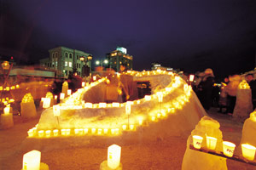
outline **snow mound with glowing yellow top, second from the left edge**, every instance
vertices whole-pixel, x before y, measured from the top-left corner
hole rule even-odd
[[[32,94],[25,94],[20,103],[20,110],[23,118],[32,118],[37,116],[37,110]]]

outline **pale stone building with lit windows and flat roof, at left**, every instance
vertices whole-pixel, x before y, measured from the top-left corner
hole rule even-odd
[[[49,58],[40,59],[40,65],[54,70],[56,77],[68,77],[77,73],[80,77],[88,76],[91,71],[92,54],[72,48],[58,47],[49,49]],[[86,72],[87,71],[87,72]]]

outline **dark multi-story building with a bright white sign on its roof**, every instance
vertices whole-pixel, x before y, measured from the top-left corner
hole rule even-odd
[[[132,70],[133,57],[127,54],[127,49],[118,47],[113,52],[106,54],[108,67],[114,71],[119,71],[120,65],[125,65],[127,70]]]

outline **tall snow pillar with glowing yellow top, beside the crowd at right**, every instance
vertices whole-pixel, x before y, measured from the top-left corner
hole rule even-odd
[[[241,81],[236,94],[236,106],[233,117],[244,122],[253,111],[252,91],[245,80]]]

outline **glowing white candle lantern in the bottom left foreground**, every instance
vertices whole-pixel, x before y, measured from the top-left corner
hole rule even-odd
[[[41,152],[32,150],[23,155],[23,170],[40,170]]]

